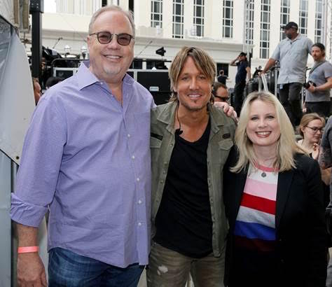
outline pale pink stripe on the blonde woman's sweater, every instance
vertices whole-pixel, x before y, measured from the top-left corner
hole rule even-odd
[[[244,186],[244,193],[275,201],[277,199],[277,184],[263,183],[248,177]]]

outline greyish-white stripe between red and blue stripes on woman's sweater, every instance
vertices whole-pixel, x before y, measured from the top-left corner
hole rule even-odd
[[[260,223],[261,225],[275,228],[275,216],[267,214],[263,211],[251,209],[249,207],[240,207],[237,214],[237,221],[243,221],[247,223]]]

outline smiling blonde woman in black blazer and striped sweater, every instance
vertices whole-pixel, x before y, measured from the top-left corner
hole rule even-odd
[[[321,174],[277,98],[249,94],[224,171],[226,286],[324,287]]]

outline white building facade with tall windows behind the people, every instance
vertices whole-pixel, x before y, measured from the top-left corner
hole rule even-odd
[[[252,52],[251,70],[263,66],[282,39],[280,25],[298,23],[301,34],[326,43],[330,59],[331,7],[326,0],[56,0],[56,13],[43,14],[43,45],[80,54],[88,24],[98,8],[114,4],[134,10],[134,56],[172,60],[184,45],[205,49],[234,85],[236,67],[228,66],[243,50]],[[60,40],[59,40],[60,39]],[[252,50],[251,50],[252,49]],[[312,58],[309,57],[308,66]],[[142,66],[146,68],[146,66]]]

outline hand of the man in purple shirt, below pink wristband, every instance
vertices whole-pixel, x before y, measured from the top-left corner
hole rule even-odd
[[[47,286],[45,267],[39,257],[39,253],[18,254],[18,286]]]

